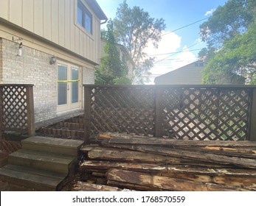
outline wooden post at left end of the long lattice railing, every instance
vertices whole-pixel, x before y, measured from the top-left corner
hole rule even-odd
[[[84,143],[89,144],[91,135],[91,97],[89,87],[84,86]]]

